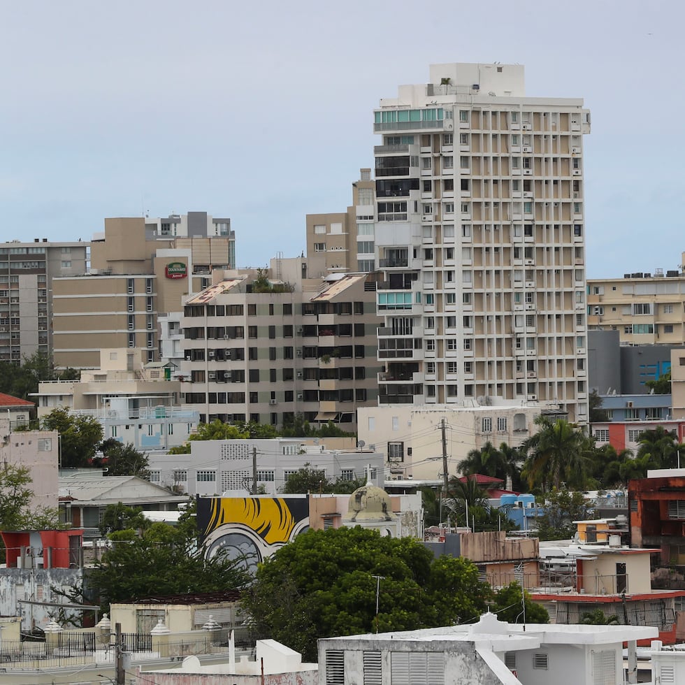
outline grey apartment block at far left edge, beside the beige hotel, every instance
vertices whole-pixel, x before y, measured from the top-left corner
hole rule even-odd
[[[89,243],[47,238],[0,247],[0,361],[52,352],[52,279],[83,273],[88,251]]]

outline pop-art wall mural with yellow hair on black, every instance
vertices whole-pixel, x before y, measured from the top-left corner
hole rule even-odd
[[[308,497],[200,497],[197,525],[207,558],[243,558],[247,568],[309,528]]]

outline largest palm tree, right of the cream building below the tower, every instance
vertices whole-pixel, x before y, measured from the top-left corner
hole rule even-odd
[[[592,441],[566,419],[551,421],[544,414],[535,417],[539,430],[524,443],[530,456],[522,475],[528,484],[542,489],[551,484],[559,489],[562,482],[582,486],[586,477]]]

